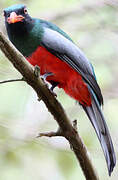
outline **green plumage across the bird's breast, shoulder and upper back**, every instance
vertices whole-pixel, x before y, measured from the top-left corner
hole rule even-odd
[[[22,52],[24,56],[29,56],[37,49],[38,46],[40,46],[44,32],[43,27],[58,31],[67,39],[71,40],[71,38],[64,31],[62,31],[53,23],[49,23],[47,21],[35,18],[32,18],[32,20],[33,27],[30,31],[27,31],[27,33],[25,33],[24,35],[22,34],[22,36],[16,36],[15,33],[10,36],[10,40],[17,47],[17,49]]]

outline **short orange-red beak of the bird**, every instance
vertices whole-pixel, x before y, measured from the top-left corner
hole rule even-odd
[[[9,24],[16,23],[16,22],[22,22],[24,17],[22,15],[17,15],[15,12],[12,12],[10,14],[10,17],[7,18],[7,22]]]

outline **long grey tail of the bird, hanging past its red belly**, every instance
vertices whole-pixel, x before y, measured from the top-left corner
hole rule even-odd
[[[112,144],[112,140],[111,140],[111,136],[110,136],[107,124],[101,112],[101,107],[97,101],[96,96],[94,95],[92,91],[91,91],[91,97],[92,97],[92,105],[82,106],[82,107],[85,110],[88,118],[90,119],[96,131],[98,139],[101,143],[104,156],[107,162],[109,176],[110,176],[116,164],[116,156],[114,152],[114,147]]]

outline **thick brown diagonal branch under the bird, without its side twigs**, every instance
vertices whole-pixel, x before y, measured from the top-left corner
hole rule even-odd
[[[0,48],[14,67],[22,74],[25,81],[35,90],[39,99],[41,98],[44,101],[48,110],[57,121],[63,136],[69,141],[86,179],[97,180],[98,177],[88,157],[87,149],[75,127],[70,123],[63,107],[40,77],[36,77],[34,74],[34,68],[1,32]]]

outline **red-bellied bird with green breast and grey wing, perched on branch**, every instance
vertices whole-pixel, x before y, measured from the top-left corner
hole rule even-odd
[[[95,129],[110,176],[116,156],[92,64],[67,33],[51,22],[32,18],[25,5],[12,5],[3,12],[10,41],[30,64],[39,66],[51,91],[62,88],[82,106]]]

